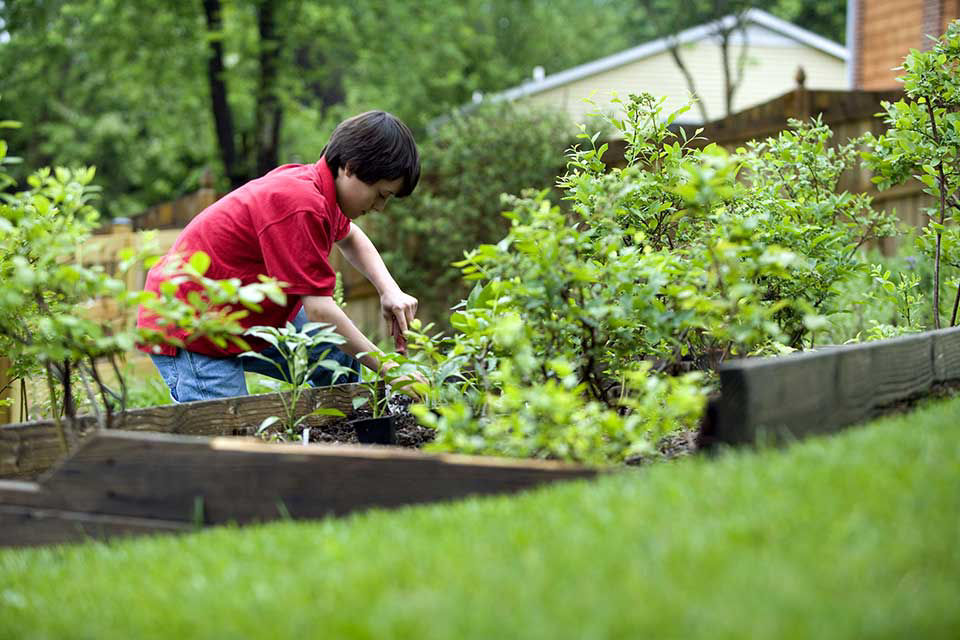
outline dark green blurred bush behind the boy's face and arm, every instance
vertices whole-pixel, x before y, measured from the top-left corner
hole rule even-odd
[[[423,143],[416,197],[391,203],[370,235],[427,317],[445,321],[467,293],[452,263],[509,229],[501,194],[551,186],[574,134],[561,114],[501,103],[452,115]]]

